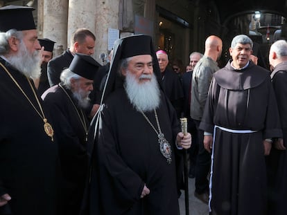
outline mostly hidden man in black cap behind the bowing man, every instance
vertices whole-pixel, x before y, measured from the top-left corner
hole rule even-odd
[[[47,76],[47,65],[48,62],[53,58],[53,49],[55,41],[51,39],[38,39],[40,46],[44,47],[42,50],[42,63],[41,63],[41,76],[40,79],[35,80],[35,86],[37,87],[37,92],[42,95],[47,88],[50,87],[48,76]]]

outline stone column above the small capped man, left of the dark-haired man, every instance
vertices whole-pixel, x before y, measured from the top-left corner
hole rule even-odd
[[[67,17],[68,0],[44,0],[43,37],[56,42],[54,52],[57,54],[58,47],[67,48]]]

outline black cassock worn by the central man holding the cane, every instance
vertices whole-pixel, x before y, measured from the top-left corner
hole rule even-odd
[[[161,97],[157,115],[172,147],[171,164],[159,150],[157,134],[130,104],[123,88],[105,102],[94,145],[90,214],[179,213],[175,137],[180,127],[173,106],[163,93]],[[157,129],[154,112],[145,114]],[[150,194],[140,198],[145,183]]]

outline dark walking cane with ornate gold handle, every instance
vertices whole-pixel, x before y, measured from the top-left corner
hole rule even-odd
[[[187,119],[180,118],[180,124],[182,126],[182,133],[187,133]],[[185,201],[185,214],[189,215],[189,172],[187,165],[187,150],[183,149],[183,160],[184,160],[184,201]]]

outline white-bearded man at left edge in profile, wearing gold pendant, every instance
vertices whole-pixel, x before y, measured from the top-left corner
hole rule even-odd
[[[0,214],[55,214],[58,149],[32,80],[41,71],[33,10],[0,8]]]

